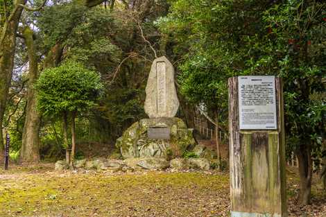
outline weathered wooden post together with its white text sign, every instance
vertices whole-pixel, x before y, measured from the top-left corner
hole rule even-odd
[[[239,76],[228,88],[231,216],[287,216],[282,80]]]

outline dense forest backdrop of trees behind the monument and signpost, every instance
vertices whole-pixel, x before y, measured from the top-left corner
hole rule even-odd
[[[151,62],[166,55],[177,71],[178,116],[189,128],[200,106],[228,131],[228,78],[280,76],[286,153],[298,156],[302,203],[309,203],[314,172],[326,187],[324,1],[0,0],[0,7],[0,123],[13,158],[62,158],[74,143],[65,123],[74,119],[76,144],[114,147],[146,117]],[[90,98],[101,95],[96,105],[78,104],[63,118],[37,112],[35,85],[61,64],[95,71],[103,84]]]

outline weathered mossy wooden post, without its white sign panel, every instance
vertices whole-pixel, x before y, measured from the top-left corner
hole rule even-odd
[[[248,80],[253,79],[250,77],[248,76]],[[238,82],[238,77],[228,80],[231,217],[286,217],[282,81],[280,78],[275,78],[276,102],[273,103],[276,107],[276,123],[274,123],[276,129],[274,130],[240,129]],[[252,89],[249,87],[249,90],[241,92],[242,101],[248,92],[255,92],[256,87],[260,88],[252,85]],[[241,88],[246,87],[241,86]],[[260,90],[264,94],[264,89]],[[253,100],[253,104],[249,102],[247,105],[256,106],[261,98],[263,97],[259,96],[257,101]],[[249,98],[248,101],[250,100],[252,99]],[[260,115],[253,112],[249,118],[256,114]],[[255,121],[251,119],[250,121],[250,124],[255,124]],[[257,122],[261,124],[261,121]],[[242,124],[244,125],[244,121]]]

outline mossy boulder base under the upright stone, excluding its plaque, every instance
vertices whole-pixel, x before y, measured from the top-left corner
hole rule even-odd
[[[166,127],[170,139],[149,139],[148,128]],[[196,141],[193,129],[188,129],[184,121],[178,118],[141,119],[133,123],[117,139],[116,146],[123,158],[130,157],[181,157],[185,150],[194,148]]]

